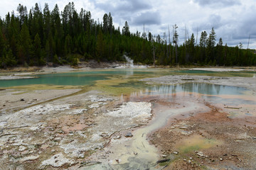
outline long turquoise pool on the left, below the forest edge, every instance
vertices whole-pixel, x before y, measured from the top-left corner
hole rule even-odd
[[[106,70],[94,72],[70,72],[58,74],[41,74],[34,79],[0,80],[0,87],[25,86],[32,84],[51,84],[63,86],[93,85],[97,80],[105,80],[113,75],[154,74],[154,72],[142,72],[133,69]]]

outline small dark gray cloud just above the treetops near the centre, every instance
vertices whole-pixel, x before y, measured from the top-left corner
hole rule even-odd
[[[139,16],[134,17],[132,19],[132,25],[134,26],[151,26],[151,25],[159,25],[161,24],[161,16],[159,12],[145,12],[141,13]]]

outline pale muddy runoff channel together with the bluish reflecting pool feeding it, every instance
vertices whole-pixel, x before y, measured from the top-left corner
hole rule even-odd
[[[92,154],[90,157],[92,162],[101,162],[101,164],[84,167],[83,169],[163,169],[164,166],[160,163],[176,159],[175,154],[178,152],[174,150],[170,155],[161,154],[157,149],[157,145],[149,143],[148,137],[152,132],[163,128],[170,118],[175,118],[177,115],[184,116],[209,112],[210,108],[206,106],[207,98],[210,98],[208,102],[215,102],[216,104],[219,101],[213,96],[226,98],[226,96],[230,97],[231,95],[236,98],[236,102],[241,102],[242,99],[238,98],[245,91],[247,89],[234,86],[186,83],[152,85],[144,90],[133,92],[129,95],[129,101],[150,102],[151,113],[154,115],[153,119],[142,128],[124,130],[119,135],[114,135],[107,147],[96,154]],[[226,98],[226,100],[228,99]],[[255,101],[252,101],[253,104],[255,104]],[[186,125],[184,127],[182,125],[180,127],[181,134],[190,135],[191,132],[186,131]],[[129,133],[131,133],[131,137],[123,137],[127,134],[129,135]],[[218,144],[218,142],[206,142],[203,140],[201,147],[212,147],[215,144]]]

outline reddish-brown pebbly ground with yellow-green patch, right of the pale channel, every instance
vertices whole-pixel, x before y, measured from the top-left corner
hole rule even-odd
[[[208,107],[210,112],[173,118],[151,135],[163,159],[171,158],[164,169],[254,169],[256,118],[232,119]]]

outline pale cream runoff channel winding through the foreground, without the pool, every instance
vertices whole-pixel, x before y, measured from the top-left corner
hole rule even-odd
[[[167,120],[171,116],[191,111],[200,112],[202,111],[202,107],[204,107],[199,103],[193,102],[183,104],[184,107],[182,108],[165,108],[165,111],[163,111],[160,109],[161,106],[154,103],[152,106],[153,110],[158,113],[155,113],[155,117],[151,120],[149,125],[145,125],[143,128],[137,130],[132,130],[132,137],[122,137],[119,140],[112,140],[110,145],[105,147],[102,152],[92,155],[91,157],[95,162],[102,162],[102,164],[97,164],[85,169],[161,169],[161,167],[159,167],[159,161],[161,162],[163,158],[159,155],[158,149],[154,145],[149,144],[147,137],[152,131],[166,125]],[[129,131],[126,130],[122,134],[127,135]],[[105,158],[99,159],[99,157],[97,157],[105,153],[107,153],[107,161]]]

